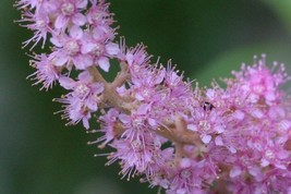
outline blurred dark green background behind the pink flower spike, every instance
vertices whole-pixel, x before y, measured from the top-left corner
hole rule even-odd
[[[111,0],[111,11],[129,46],[143,41],[155,58],[172,59],[185,75],[207,85],[229,76],[253,56],[267,54],[291,72],[290,0]],[[25,77],[34,72],[21,43],[32,33],[13,23],[13,0],[0,2],[0,193],[156,194],[137,180],[120,180],[118,165],[87,141],[82,125],[64,126],[51,99]]]

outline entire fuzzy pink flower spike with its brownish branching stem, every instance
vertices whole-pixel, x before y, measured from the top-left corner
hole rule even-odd
[[[68,124],[83,122],[102,136],[89,144],[111,147],[123,178],[141,177],[168,194],[291,193],[290,77],[283,64],[269,69],[265,56],[242,65],[226,87],[193,87],[171,62],[150,64],[143,45],[114,41],[112,14],[104,0],[20,0],[22,25],[34,48],[49,53],[31,61],[35,84],[68,90],[56,99]],[[112,59],[120,71],[112,82]],[[99,130],[92,130],[101,113]]]

